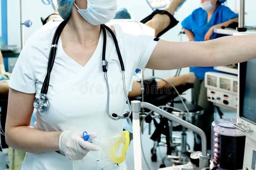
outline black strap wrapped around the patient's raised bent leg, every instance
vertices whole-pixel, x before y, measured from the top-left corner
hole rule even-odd
[[[145,24],[146,22],[148,22],[149,20],[151,20],[156,14],[166,14],[169,16],[171,22],[170,25],[167,26],[161,33],[159,33],[156,37],[159,38],[161,35],[163,35],[164,33],[166,33],[168,30],[170,30],[171,28],[173,28],[174,26],[176,26],[179,21],[177,21],[172,14],[170,14],[168,11],[164,11],[164,10],[155,10],[153,11],[149,16],[147,16],[146,18],[142,19],[140,22]]]

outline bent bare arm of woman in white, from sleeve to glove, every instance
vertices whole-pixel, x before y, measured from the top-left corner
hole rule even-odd
[[[61,132],[45,132],[29,126],[34,100],[35,93],[9,89],[5,123],[6,143],[15,149],[32,153],[58,151]]]

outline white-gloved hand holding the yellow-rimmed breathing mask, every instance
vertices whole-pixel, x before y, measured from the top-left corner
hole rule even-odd
[[[91,137],[97,137],[95,133]],[[83,133],[66,130],[60,134],[59,138],[60,151],[65,153],[69,160],[83,159],[90,151],[99,151],[100,148],[90,142],[84,141]]]

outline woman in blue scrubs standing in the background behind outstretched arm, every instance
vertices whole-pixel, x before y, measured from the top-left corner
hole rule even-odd
[[[223,35],[213,33],[214,28],[227,27],[231,22],[238,22],[238,14],[222,5],[226,0],[201,0],[202,8],[198,8],[185,18],[181,25],[190,41],[208,41]],[[191,72],[196,75],[192,101],[203,107],[204,114],[200,116],[196,125],[204,130],[207,135],[207,146],[211,149],[211,123],[213,122],[214,105],[207,100],[207,89],[204,86],[206,72],[216,72],[213,67],[191,67]],[[201,150],[201,140],[195,136],[194,150]]]

